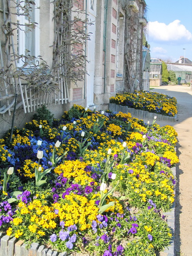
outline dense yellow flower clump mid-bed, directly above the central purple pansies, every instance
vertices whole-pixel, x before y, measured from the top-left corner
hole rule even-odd
[[[72,179],[74,182],[80,183],[81,185],[86,185],[94,181],[90,177],[90,172],[84,170],[87,165],[87,163],[81,162],[80,160],[66,161],[64,164],[57,166],[54,172],[58,175],[63,173],[64,177]]]

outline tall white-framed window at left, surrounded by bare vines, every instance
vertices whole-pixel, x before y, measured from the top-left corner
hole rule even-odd
[[[35,4],[20,2],[21,7],[17,7],[17,52],[19,55],[38,56],[39,52],[39,29],[38,29],[38,1]],[[17,3],[19,0],[17,1]],[[36,24],[34,24],[36,23]],[[34,25],[32,25],[34,24]],[[18,66],[28,61],[24,58],[18,60]],[[28,61],[29,64],[35,64],[36,59]]]

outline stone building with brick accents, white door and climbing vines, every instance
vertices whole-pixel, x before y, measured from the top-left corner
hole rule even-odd
[[[116,92],[149,89],[145,7],[144,0],[1,0],[0,135],[16,99],[15,125],[23,125],[42,105],[59,117],[73,104],[105,110]]]

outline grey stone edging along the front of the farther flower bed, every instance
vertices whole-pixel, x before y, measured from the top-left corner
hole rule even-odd
[[[176,122],[177,115],[175,116],[163,116],[157,113],[151,113],[148,111],[143,111],[140,109],[128,108],[127,106],[117,105],[115,103],[109,103],[109,110],[113,112],[122,112],[122,113],[131,113],[131,116],[141,119],[154,119],[154,116],[157,116],[157,120],[165,120],[168,122]]]

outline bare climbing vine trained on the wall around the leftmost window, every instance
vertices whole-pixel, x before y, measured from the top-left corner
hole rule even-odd
[[[16,109],[22,105],[22,85],[25,90],[41,90],[54,94],[65,91],[69,100],[67,84],[84,79],[86,56],[84,45],[89,39],[86,34],[87,19],[83,10],[75,9],[74,0],[54,0],[54,44],[53,62],[49,67],[41,56],[32,56],[26,49],[25,55],[19,55],[15,49],[18,30],[35,29],[37,23],[32,20],[33,0],[3,0],[3,32],[5,39],[0,41],[0,113]],[[50,4],[50,3],[49,3]],[[73,12],[73,19],[72,19]],[[17,16],[25,16],[28,23],[21,24]],[[84,18],[82,18],[84,17]],[[5,53],[3,53],[3,50]],[[6,60],[5,60],[6,59]],[[18,60],[22,65],[18,66]],[[38,60],[38,61],[34,61]],[[36,64],[37,63],[37,64]],[[17,97],[19,101],[17,103]],[[23,101],[27,101],[23,99]],[[28,102],[26,102],[28,104]],[[63,101],[62,101],[63,103]],[[29,105],[29,104],[28,104]],[[29,107],[28,112],[29,112]]]

